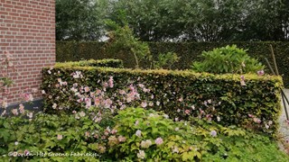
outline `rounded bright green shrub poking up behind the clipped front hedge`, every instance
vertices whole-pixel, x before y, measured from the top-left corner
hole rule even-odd
[[[203,51],[203,60],[193,62],[191,68],[196,72],[214,74],[244,74],[263,70],[264,66],[258,63],[257,59],[250,58],[246,51],[238,49],[236,45]]]

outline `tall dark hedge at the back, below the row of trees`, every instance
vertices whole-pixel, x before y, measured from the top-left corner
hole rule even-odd
[[[151,52],[154,58],[158,53],[173,51],[181,57],[180,61],[172,66],[173,69],[191,68],[191,62],[200,60],[200,53],[203,50],[224,47],[226,45],[236,44],[238,48],[248,49],[248,54],[252,58],[258,58],[266,65],[265,58],[268,58],[273,65],[269,45],[272,44],[275,49],[275,58],[279,68],[280,75],[283,76],[284,86],[289,87],[289,42],[149,42]],[[119,55],[105,53],[102,47],[103,42],[75,42],[75,41],[57,41],[56,43],[56,60],[78,61],[80,59],[102,59],[102,58],[119,58],[124,61],[125,67],[135,67],[135,59],[122,52]],[[267,65],[266,65],[267,66]],[[266,68],[266,73],[271,73]]]

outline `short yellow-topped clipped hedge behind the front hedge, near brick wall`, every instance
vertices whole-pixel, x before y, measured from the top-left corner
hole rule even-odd
[[[89,59],[81,61],[57,62],[57,67],[115,67],[122,68],[124,63],[120,59]]]

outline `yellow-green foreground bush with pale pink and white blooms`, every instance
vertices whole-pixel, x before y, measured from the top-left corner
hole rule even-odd
[[[166,116],[143,108],[120,111],[115,117],[117,125],[114,129],[117,130],[117,135],[125,137],[126,141],[112,145],[109,152],[126,160],[200,159],[202,150],[196,149],[197,142],[194,141],[197,138],[190,133],[193,130],[189,125],[184,125],[184,122],[174,122],[166,119]]]

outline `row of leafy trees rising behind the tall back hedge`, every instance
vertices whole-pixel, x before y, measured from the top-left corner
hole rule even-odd
[[[57,40],[98,40],[107,20],[143,41],[289,40],[288,0],[56,0]]]

